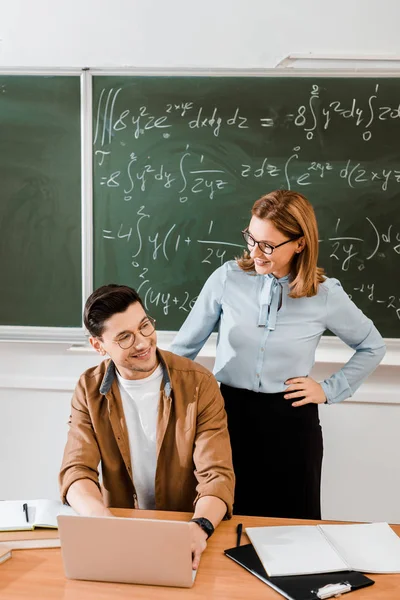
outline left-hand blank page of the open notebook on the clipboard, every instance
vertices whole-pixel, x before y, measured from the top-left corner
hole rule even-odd
[[[270,577],[348,569],[315,525],[246,527],[246,533]]]

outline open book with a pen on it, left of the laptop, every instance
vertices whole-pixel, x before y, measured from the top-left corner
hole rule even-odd
[[[57,529],[57,515],[76,515],[57,500],[3,500],[0,502],[0,531],[25,531],[35,527]]]

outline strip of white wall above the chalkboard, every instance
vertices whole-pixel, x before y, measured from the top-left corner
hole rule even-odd
[[[273,67],[399,54],[397,0],[2,0],[4,66]]]

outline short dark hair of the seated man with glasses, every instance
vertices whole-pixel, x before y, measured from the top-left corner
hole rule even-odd
[[[133,288],[115,283],[102,285],[86,300],[83,312],[86,329],[93,337],[101,337],[105,321],[116,313],[125,312],[134,302],[143,306],[140,296]]]

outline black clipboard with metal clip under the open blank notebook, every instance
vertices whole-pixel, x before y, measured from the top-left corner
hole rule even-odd
[[[229,548],[225,554],[288,600],[318,600],[317,591],[328,584],[349,583],[354,591],[375,583],[357,571],[269,577],[252,544]]]

